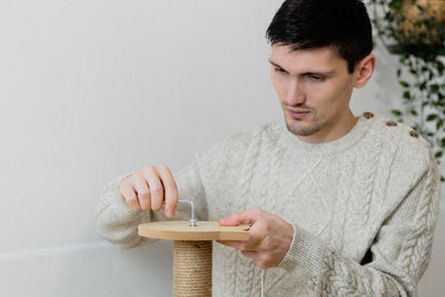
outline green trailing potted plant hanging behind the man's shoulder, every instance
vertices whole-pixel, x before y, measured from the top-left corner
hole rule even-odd
[[[367,4],[380,41],[399,58],[396,76],[405,108],[392,113],[428,140],[441,162],[445,150],[445,0],[368,0]]]

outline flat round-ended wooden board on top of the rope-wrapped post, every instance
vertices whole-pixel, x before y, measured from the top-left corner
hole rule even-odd
[[[249,225],[219,226],[217,221],[154,221],[138,226],[142,237],[171,240],[248,240]]]

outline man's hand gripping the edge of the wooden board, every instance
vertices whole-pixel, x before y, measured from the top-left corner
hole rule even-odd
[[[277,267],[285,258],[294,238],[294,227],[289,222],[259,208],[236,212],[218,222],[220,226],[251,225],[249,240],[218,242],[239,249],[263,269]]]

